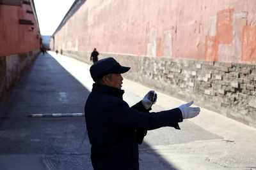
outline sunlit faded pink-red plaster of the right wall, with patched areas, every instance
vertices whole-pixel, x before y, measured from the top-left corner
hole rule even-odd
[[[255,11],[255,0],[87,0],[51,48],[254,63]]]

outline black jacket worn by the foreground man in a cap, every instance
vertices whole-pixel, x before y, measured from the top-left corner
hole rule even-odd
[[[179,108],[149,113],[141,101],[130,108],[123,94],[124,90],[93,84],[86,101],[84,113],[94,169],[139,169],[138,143],[144,132],[164,126],[179,129],[178,122],[182,122]]]

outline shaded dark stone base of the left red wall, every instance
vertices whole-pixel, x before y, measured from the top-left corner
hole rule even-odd
[[[0,57],[0,106],[39,53],[40,50],[35,50]]]

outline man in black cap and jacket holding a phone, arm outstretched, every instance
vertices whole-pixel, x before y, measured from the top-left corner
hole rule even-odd
[[[196,117],[200,108],[183,104],[173,110],[149,112],[154,91],[131,108],[123,100],[122,73],[130,67],[120,66],[112,57],[90,67],[95,83],[84,107],[88,137],[92,145],[91,160],[97,169],[139,169],[138,143],[147,130],[170,126],[179,128],[183,118]],[[156,94],[155,94],[156,95]]]

